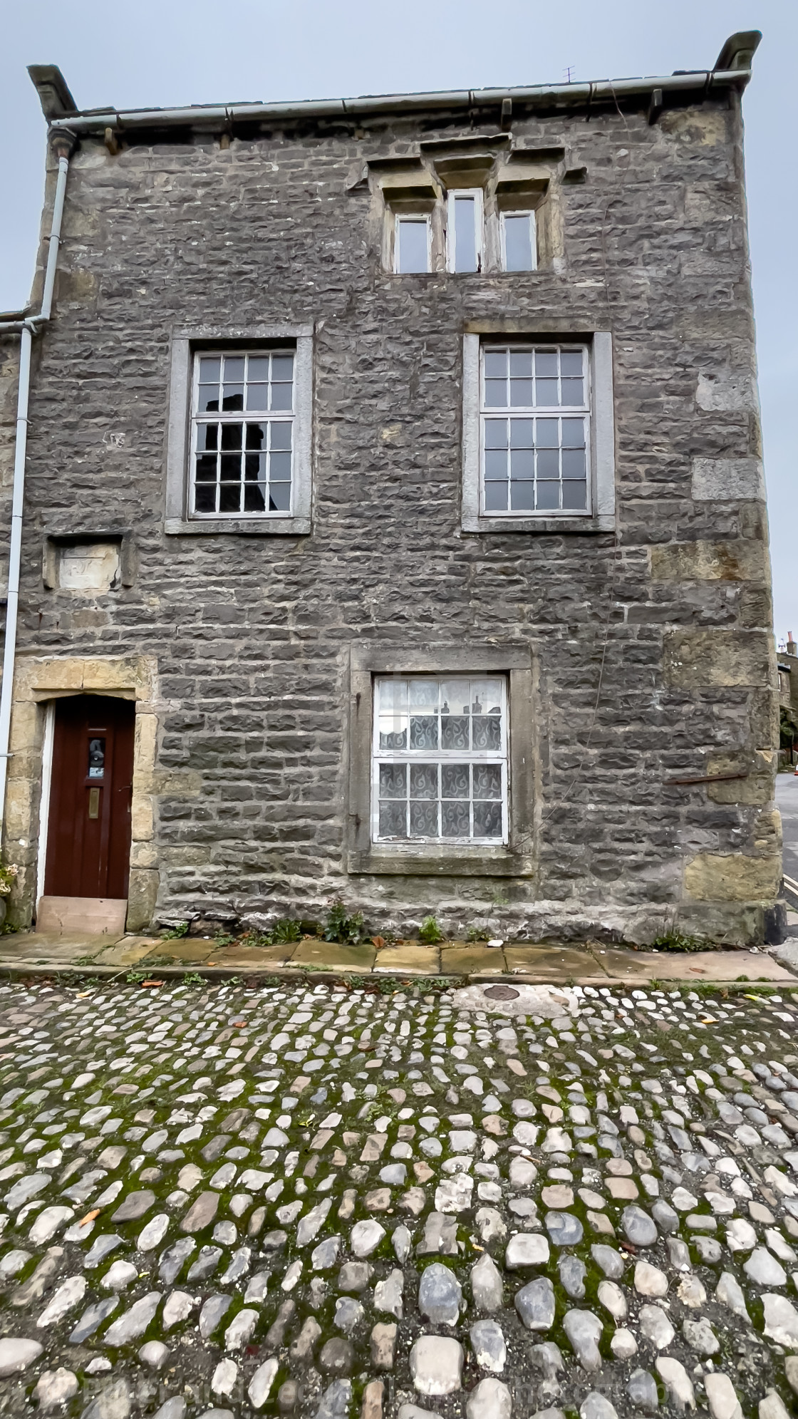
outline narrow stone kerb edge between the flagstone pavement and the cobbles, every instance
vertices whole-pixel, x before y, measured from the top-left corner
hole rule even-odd
[[[428,986],[428,989],[439,989],[441,982],[446,982],[444,989],[463,988],[468,985],[551,985],[551,986],[574,986],[580,985],[577,979],[568,976],[567,979],[557,979],[551,973],[549,981],[541,981],[540,973],[534,976],[523,975],[509,975],[509,973],[481,973],[473,975],[420,975],[411,971],[397,971],[393,975],[373,975],[371,972],[363,973],[361,971],[298,971],[286,969],[279,966],[249,966],[234,969],[231,966],[191,966],[186,969],[184,966],[159,966],[152,972],[139,971],[136,966],[91,966],[91,965],[0,965],[0,981],[20,981],[20,979],[60,979],[60,981],[112,981],[116,979],[122,985],[128,983],[128,976],[135,975],[142,978],[142,981],[186,981],[187,976],[201,976],[203,981],[208,983],[223,983],[224,981],[279,981],[288,983],[303,982],[305,985],[336,985],[340,981],[360,981],[366,983],[371,981],[374,983],[384,982],[388,985],[391,981],[401,982],[403,986]],[[642,976],[634,981],[621,979],[618,976],[607,976],[601,981],[601,986],[611,989],[638,989],[648,986],[651,989],[651,982],[655,981],[659,989],[678,990],[690,989],[699,992],[714,992],[726,990],[734,993],[763,993],[768,995],[782,995],[798,992],[798,978],[794,981],[696,981],[693,976],[685,976],[685,979],[668,978],[652,975],[651,979],[644,979]],[[140,981],[132,981],[130,985],[140,983]],[[196,983],[196,981],[193,982]],[[598,989],[597,982],[591,979],[588,982],[594,989]]]

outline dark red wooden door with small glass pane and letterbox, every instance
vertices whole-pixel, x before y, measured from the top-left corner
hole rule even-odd
[[[135,714],[103,695],[55,702],[48,897],[128,895]]]

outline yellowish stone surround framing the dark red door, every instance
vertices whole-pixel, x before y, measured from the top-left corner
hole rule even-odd
[[[157,806],[156,758],[159,714],[163,704],[157,690],[154,656],[72,657],[23,656],[14,673],[11,738],[3,850],[6,861],[16,863],[18,874],[9,900],[9,922],[30,927],[44,885],[47,816],[52,776],[52,731],[48,735],[48,710],[55,719],[55,700],[72,695],[106,695],[133,700],[136,725],[133,738],[133,799],[130,837],[130,883],[128,888],[128,931],[150,925],[160,884],[154,849]],[[50,739],[50,742],[48,742]],[[172,790],[194,796],[200,776],[172,771]],[[194,782],[196,780],[196,782]],[[47,788],[47,796],[45,796]],[[40,868],[41,861],[41,868]]]

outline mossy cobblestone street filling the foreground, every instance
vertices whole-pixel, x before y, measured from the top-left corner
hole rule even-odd
[[[0,988],[0,1412],[787,1419],[792,998],[424,990]]]

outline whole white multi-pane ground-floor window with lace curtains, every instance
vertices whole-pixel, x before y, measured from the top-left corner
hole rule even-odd
[[[503,675],[377,675],[373,841],[507,841]]]

